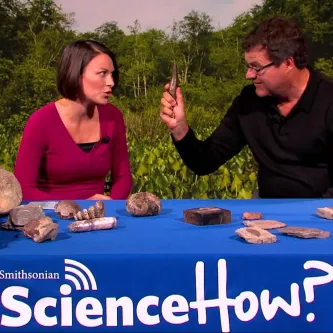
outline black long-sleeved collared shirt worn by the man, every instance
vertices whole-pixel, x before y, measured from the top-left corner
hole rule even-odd
[[[262,198],[333,197],[333,83],[310,70],[287,117],[274,98],[258,97],[253,85],[246,86],[209,138],[199,141],[190,128],[173,142],[198,175],[216,171],[248,145]]]

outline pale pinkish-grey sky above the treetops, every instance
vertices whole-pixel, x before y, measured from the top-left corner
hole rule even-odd
[[[212,25],[224,28],[233,19],[263,0],[54,0],[65,13],[75,13],[74,30],[93,31],[105,22],[115,21],[128,32],[127,26],[139,20],[143,31],[151,28],[167,30],[192,10],[212,18]]]

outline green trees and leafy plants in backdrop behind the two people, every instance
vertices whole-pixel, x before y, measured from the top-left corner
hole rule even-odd
[[[53,0],[2,0],[0,165],[13,169],[29,115],[59,97],[56,69],[63,47],[79,38],[91,38],[105,43],[117,56],[120,85],[111,102],[126,122],[133,191],[150,191],[161,198],[249,198],[257,188],[257,166],[247,147],[202,177],[180,159],[159,119],[171,65],[177,63],[187,119],[204,139],[247,84],[241,43],[268,17],[294,18],[306,32],[310,63],[333,76],[332,10],[332,1],[265,0],[219,30],[213,29],[207,14],[191,11],[173,22],[169,34],[141,31],[138,20],[128,27],[128,35],[114,21],[79,34],[71,29],[73,14],[62,12]]]

